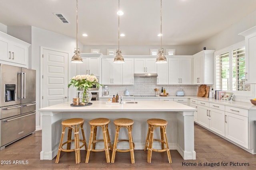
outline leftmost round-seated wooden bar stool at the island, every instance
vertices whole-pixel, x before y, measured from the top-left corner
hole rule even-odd
[[[84,119],[80,119],[80,118],[67,119],[67,120],[62,121],[61,124],[62,124],[62,134],[61,134],[61,137],[60,137],[60,145],[59,145],[58,154],[57,154],[55,163],[58,164],[58,162],[59,162],[60,151],[64,151],[64,152],[75,151],[76,164],[79,164],[81,162],[80,149],[85,146],[85,149],[87,150],[86,140],[85,140],[85,137],[84,137],[84,129],[83,129]],[[66,142],[62,143],[66,127],[68,127],[68,139],[67,139]],[[83,140],[79,139],[79,129],[80,128],[81,128],[81,131],[82,131]],[[74,139],[73,140],[71,139],[72,129],[74,130]],[[74,149],[70,149],[70,144],[72,142],[75,143],[75,148]],[[83,143],[81,146],[79,146],[80,142]],[[66,145],[66,144],[67,144],[67,149],[63,149],[63,146]]]

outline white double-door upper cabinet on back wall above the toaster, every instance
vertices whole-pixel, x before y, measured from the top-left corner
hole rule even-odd
[[[191,63],[189,57],[169,58],[169,84],[191,84]]]

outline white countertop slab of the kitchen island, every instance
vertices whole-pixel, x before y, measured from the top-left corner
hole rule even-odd
[[[91,106],[70,106],[72,101],[38,109],[46,111],[196,111],[197,109],[172,101],[138,101],[137,104],[106,104],[106,101],[91,101]]]

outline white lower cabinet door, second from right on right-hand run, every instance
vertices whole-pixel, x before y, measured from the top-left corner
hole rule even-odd
[[[225,136],[225,111],[210,109],[210,129],[222,136]]]

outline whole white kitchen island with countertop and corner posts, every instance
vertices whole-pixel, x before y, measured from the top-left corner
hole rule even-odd
[[[84,133],[86,142],[90,137],[89,121],[95,118],[108,118],[111,142],[114,142],[115,126],[114,119],[130,118],[134,120],[132,129],[135,149],[144,149],[148,124],[147,119],[165,119],[167,138],[171,150],[178,150],[184,160],[196,159],[194,151],[194,109],[173,101],[138,101],[124,104],[106,104],[106,101],[91,101],[90,106],[72,107],[72,102],[65,102],[54,106],[39,109],[42,117],[42,151],[41,160],[52,160],[58,152],[60,135],[62,133],[61,122],[70,118],[84,119]],[[127,130],[120,129],[120,139],[127,139]],[[156,129],[154,138],[160,138],[160,131]],[[66,135],[66,134],[65,134]],[[80,134],[81,136],[81,134]],[[99,130],[97,137],[102,137]],[[66,137],[64,138],[66,139]],[[103,148],[104,144],[97,144]],[[96,148],[97,148],[96,147]],[[126,143],[118,144],[119,149],[127,149]],[[153,148],[160,149],[161,144],[154,142]]]

